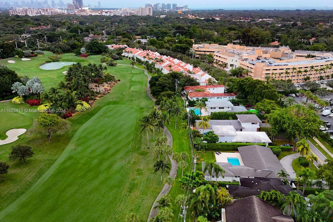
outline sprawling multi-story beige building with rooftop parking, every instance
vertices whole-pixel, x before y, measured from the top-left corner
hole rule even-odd
[[[200,46],[200,45],[199,45]],[[318,81],[320,76],[327,79],[333,74],[333,52],[295,51],[289,47],[247,47],[228,44],[203,44],[202,47],[193,45],[197,54],[213,54],[214,66],[224,68],[226,71],[242,67],[244,77],[263,80],[266,75],[273,79],[291,79],[293,83],[303,83],[304,78],[309,81]],[[215,52],[212,52],[214,51]],[[316,58],[305,58],[308,54]]]

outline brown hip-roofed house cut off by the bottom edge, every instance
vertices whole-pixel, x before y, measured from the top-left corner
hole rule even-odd
[[[233,200],[222,208],[223,222],[294,222],[280,208],[256,197]]]

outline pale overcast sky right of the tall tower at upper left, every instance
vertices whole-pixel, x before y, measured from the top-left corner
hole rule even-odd
[[[67,0],[68,1],[68,0]],[[274,7],[292,7],[292,8],[322,8],[333,7],[333,0],[174,0],[174,1],[144,1],[144,0],[122,0],[108,1],[100,0],[102,7],[139,7],[144,6],[146,2],[154,3],[177,3],[177,6],[188,5],[189,8],[274,8]],[[56,1],[57,2],[57,1]],[[66,2],[66,0],[64,1]],[[98,0],[83,0],[85,5],[97,5]]]

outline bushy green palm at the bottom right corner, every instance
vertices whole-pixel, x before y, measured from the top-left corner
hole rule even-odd
[[[311,209],[322,216],[324,221],[331,221],[333,217],[333,190],[324,190],[317,195],[310,194]]]

